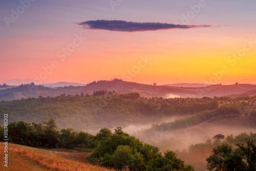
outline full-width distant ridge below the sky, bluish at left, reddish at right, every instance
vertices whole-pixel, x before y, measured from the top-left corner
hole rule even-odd
[[[28,97],[54,97],[60,94],[84,94],[92,95],[94,91],[108,90],[117,92],[118,94],[140,93],[144,97],[214,97],[214,96],[230,96],[238,95],[236,97],[243,97],[246,95],[253,95],[256,90],[254,84],[234,84],[234,85],[212,85],[207,87],[171,87],[171,86],[152,86],[149,84],[141,84],[136,82],[122,81],[113,79],[111,81],[100,80],[94,81],[86,86],[64,86],[53,88],[60,84],[53,84],[52,88],[44,86],[36,86],[34,84],[24,84],[18,87],[0,89],[0,101],[14,100]],[[63,85],[66,83],[63,83]],[[67,84],[68,85],[68,84]],[[47,85],[50,86],[50,85]]]

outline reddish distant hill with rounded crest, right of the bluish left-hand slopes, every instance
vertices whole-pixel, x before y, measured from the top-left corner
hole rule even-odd
[[[234,85],[212,85],[201,88],[178,88],[170,86],[152,86],[149,84],[141,84],[137,82],[122,81],[114,79],[112,81],[100,80],[94,81],[87,86],[81,87],[63,87],[56,89],[59,92],[66,94],[80,94],[81,92],[93,94],[93,91],[108,90],[118,92],[119,94],[137,92],[145,97],[214,97],[214,96],[227,96],[231,94],[240,94],[247,91],[256,90],[254,84],[234,84]]]

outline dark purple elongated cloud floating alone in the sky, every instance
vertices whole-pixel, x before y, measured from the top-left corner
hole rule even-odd
[[[194,26],[194,25],[175,25],[175,24],[167,24],[167,23],[137,23],[137,22],[126,22],[123,20],[91,20],[91,21],[81,22],[76,24],[83,26],[83,29],[126,31],[126,32],[212,27],[209,25]]]

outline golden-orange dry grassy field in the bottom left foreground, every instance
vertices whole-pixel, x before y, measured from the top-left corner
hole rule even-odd
[[[9,143],[7,168],[3,162],[5,155],[4,144],[0,143],[0,157],[2,159],[0,170],[112,170],[98,167],[88,163],[86,160],[82,160],[81,157],[85,158],[85,154],[86,152],[57,152]]]

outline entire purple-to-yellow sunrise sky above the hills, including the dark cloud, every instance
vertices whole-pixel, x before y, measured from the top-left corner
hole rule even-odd
[[[256,84],[254,0],[0,1],[0,83]]]

